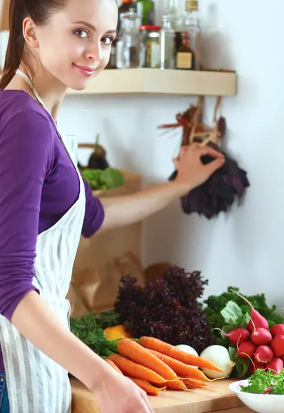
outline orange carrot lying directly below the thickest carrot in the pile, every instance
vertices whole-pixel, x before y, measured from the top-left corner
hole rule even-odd
[[[126,376],[133,377],[134,379],[146,380],[150,383],[166,383],[166,380],[163,379],[163,377],[161,377],[159,374],[153,372],[149,368],[140,366],[140,364],[135,363],[134,361],[120,356],[120,354],[111,354],[108,359],[113,361],[113,363],[115,363],[115,365]]]

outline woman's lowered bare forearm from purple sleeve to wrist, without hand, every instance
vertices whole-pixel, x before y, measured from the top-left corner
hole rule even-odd
[[[109,374],[107,363],[61,324],[36,291],[30,291],[23,297],[11,321],[36,348],[63,366],[91,391],[99,391],[103,375]]]

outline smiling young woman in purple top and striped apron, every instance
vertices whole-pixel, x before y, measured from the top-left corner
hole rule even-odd
[[[56,125],[67,87],[109,61],[116,0],[11,0],[0,92],[0,412],[68,413],[68,372],[102,413],[153,412],[147,396],[69,331],[65,299],[80,235],[137,222],[204,182],[223,157],[181,151],[175,182],[98,200]],[[200,156],[216,159],[202,165]],[[9,407],[10,405],[10,407]]]

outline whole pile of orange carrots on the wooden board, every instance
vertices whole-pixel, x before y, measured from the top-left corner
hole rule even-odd
[[[208,378],[193,366],[221,371],[209,361],[153,337],[141,337],[138,342],[121,339],[117,349],[107,362],[151,396],[164,389],[188,391],[206,385]]]

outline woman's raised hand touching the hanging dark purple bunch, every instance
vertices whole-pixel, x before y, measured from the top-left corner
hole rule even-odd
[[[212,156],[215,160],[204,165],[201,156]],[[223,153],[209,146],[202,147],[199,143],[181,147],[179,157],[173,160],[177,169],[175,183],[184,187],[185,193],[203,184],[217,169],[223,166]]]

